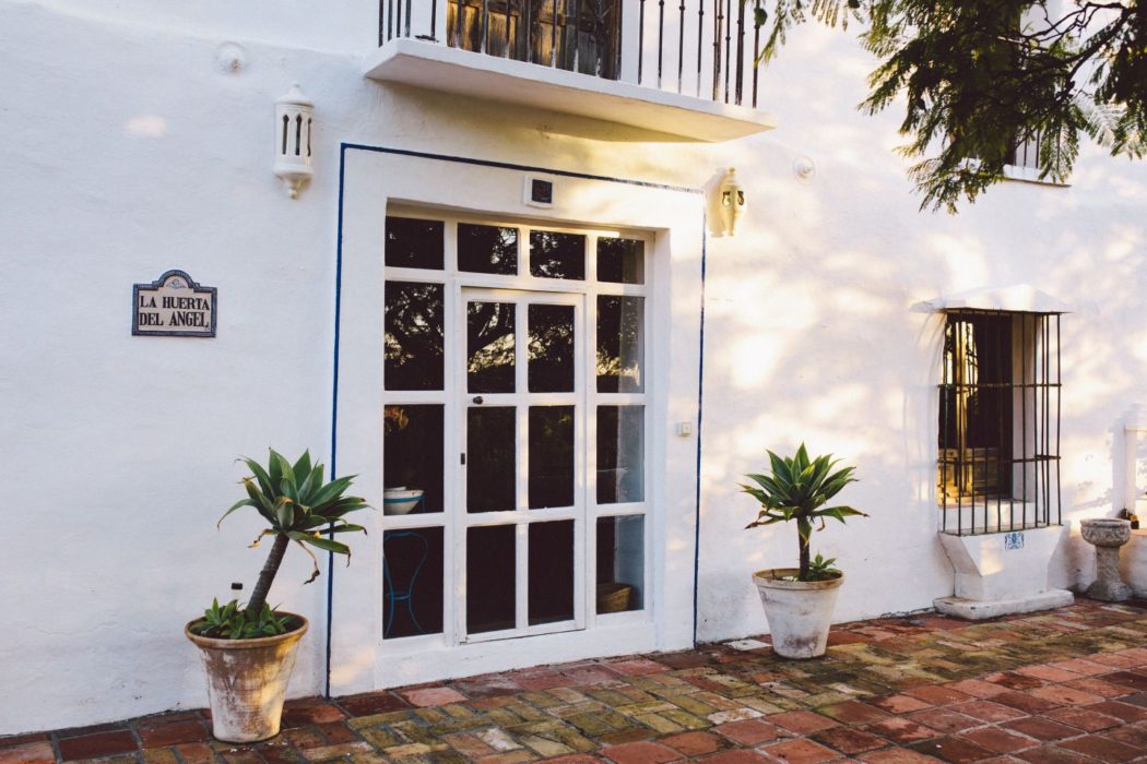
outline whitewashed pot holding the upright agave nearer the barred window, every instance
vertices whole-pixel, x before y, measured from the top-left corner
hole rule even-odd
[[[783,657],[817,657],[828,646],[836,594],[844,576],[828,581],[783,581],[797,568],[770,568],[752,574],[765,606],[773,652]]]

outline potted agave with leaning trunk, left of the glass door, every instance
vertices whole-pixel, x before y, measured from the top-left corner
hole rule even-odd
[[[200,648],[206,670],[212,733],[227,742],[253,742],[279,734],[287,682],[309,625],[302,615],[282,613],[267,604],[287,548],[294,541],[311,556],[314,569],[305,582],[311,583],[319,575],[319,561],[307,545],[345,554],[350,562],[350,549],[329,535],[366,533],[344,519],[350,512],[367,509],[364,499],[343,495],[353,475],[323,482],[322,465],[312,465],[306,451],[291,464],[271,449],[265,468],[253,459],[242,460],[252,473],[242,481],[247,498],[236,502],[219,522],[241,507],[255,507],[270,527],[251,546],[273,536],[271,553],[247,607],[240,607],[237,600],[219,605],[217,599],[203,617],[184,629]]]

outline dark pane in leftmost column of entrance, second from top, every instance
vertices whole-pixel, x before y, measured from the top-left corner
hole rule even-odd
[[[387,282],[385,389],[442,389],[443,296],[442,284]]]

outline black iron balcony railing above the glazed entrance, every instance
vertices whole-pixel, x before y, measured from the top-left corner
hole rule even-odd
[[[760,0],[380,0],[379,46],[418,39],[757,107]]]

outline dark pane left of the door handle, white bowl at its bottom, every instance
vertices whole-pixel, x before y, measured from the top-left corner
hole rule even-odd
[[[443,510],[443,405],[383,409],[382,482],[385,488],[421,489],[412,512]]]

